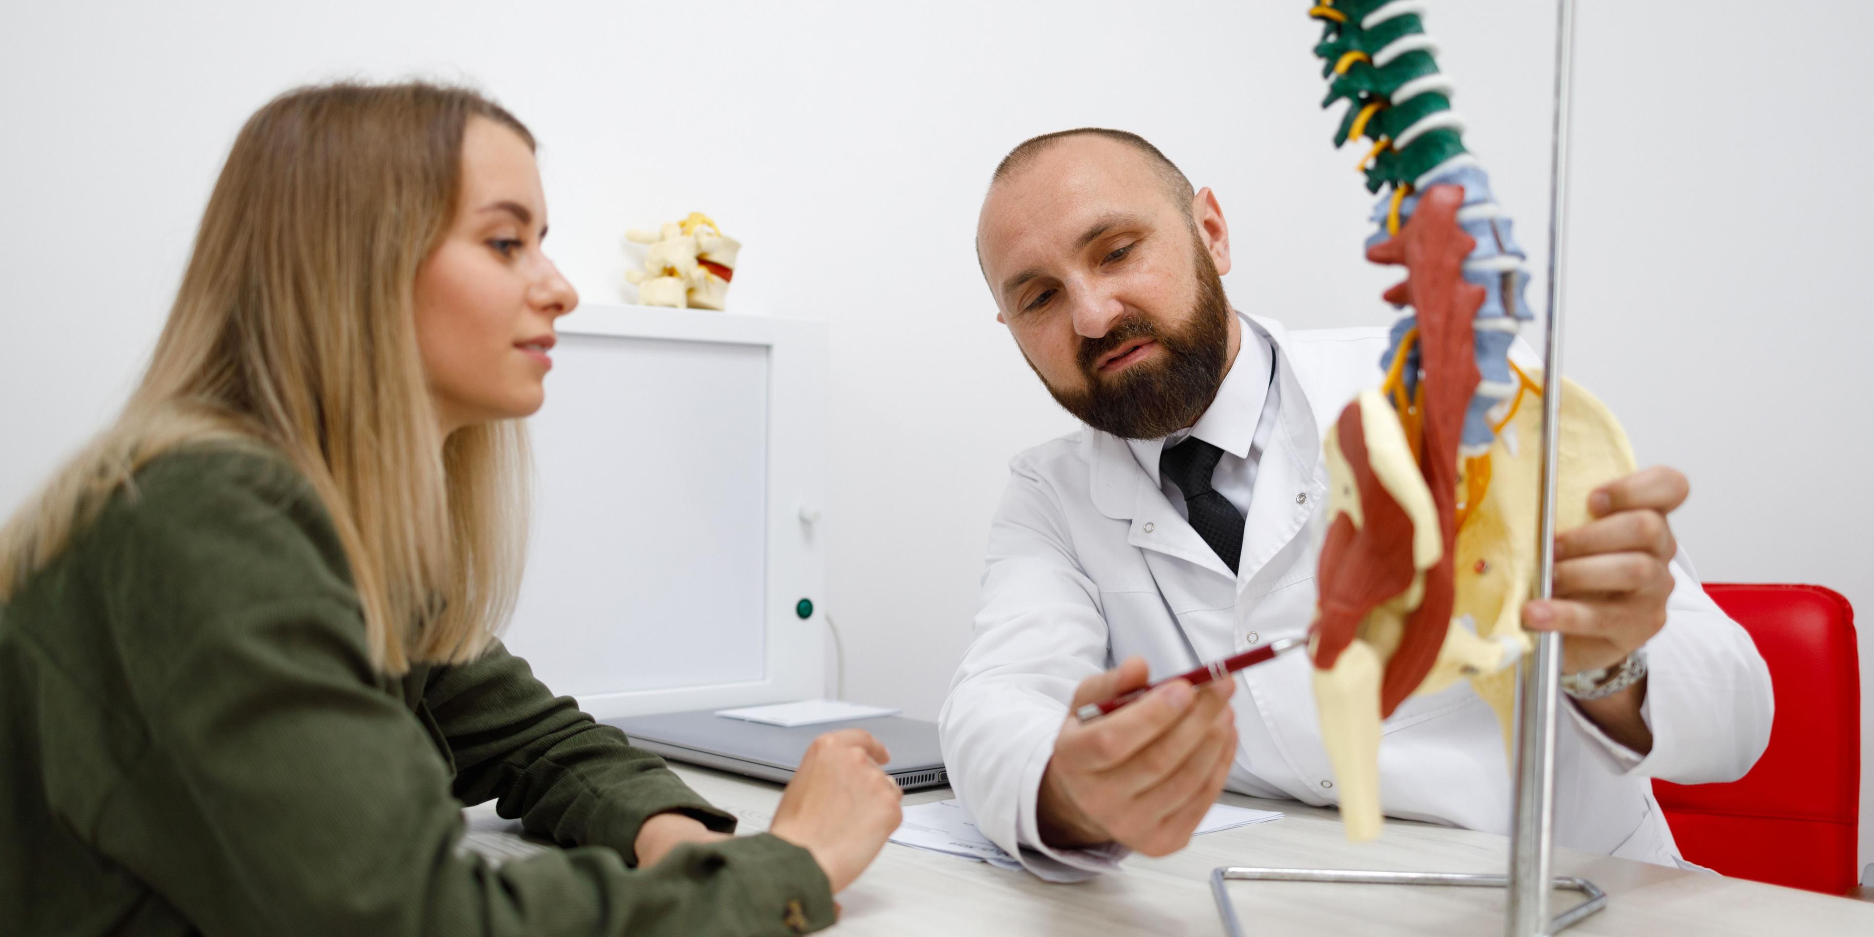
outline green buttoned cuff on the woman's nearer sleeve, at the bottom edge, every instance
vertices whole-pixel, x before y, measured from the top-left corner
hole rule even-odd
[[[774,834],[738,836],[721,843],[684,843],[663,862],[714,866],[748,900],[748,922],[736,933],[791,937],[830,928],[838,920],[832,883],[813,853]]]

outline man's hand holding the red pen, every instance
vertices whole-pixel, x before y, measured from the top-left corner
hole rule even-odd
[[[1083,680],[1068,710],[1147,684],[1145,660],[1128,658]],[[1235,761],[1235,680],[1199,690],[1175,680],[1087,723],[1070,714],[1042,774],[1042,841],[1063,849],[1117,841],[1149,856],[1182,849]]]

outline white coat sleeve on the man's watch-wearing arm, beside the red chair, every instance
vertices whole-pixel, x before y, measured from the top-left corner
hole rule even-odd
[[[1690,557],[1672,560],[1666,626],[1645,645],[1645,703],[1653,731],[1645,755],[1608,738],[1574,705],[1574,725],[1599,742],[1623,774],[1673,783],[1743,778],[1769,746],[1777,712],[1769,667],[1756,641],[1705,594]]]

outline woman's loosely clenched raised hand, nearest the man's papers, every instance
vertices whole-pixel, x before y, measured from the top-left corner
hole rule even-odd
[[[890,759],[864,729],[826,733],[781,793],[768,832],[811,853],[834,892],[853,885],[898,828],[903,791],[879,770]]]

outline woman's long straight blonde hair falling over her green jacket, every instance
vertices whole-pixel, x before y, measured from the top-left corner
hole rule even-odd
[[[384,673],[489,645],[521,577],[527,435],[440,439],[412,309],[476,116],[534,146],[493,101],[425,82],[300,88],[247,120],[124,412],[0,530],[0,600],[157,455],[262,444],[330,512]]]

